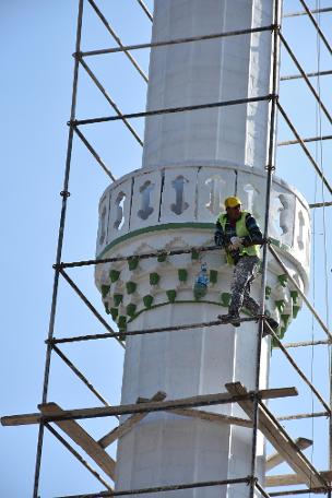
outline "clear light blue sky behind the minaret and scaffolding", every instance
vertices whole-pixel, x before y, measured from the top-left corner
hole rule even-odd
[[[86,2],[85,2],[86,3]],[[309,4],[316,7],[318,2]],[[328,7],[329,1],[321,1]],[[99,7],[126,44],[150,40],[151,23],[134,0],[99,0]],[[152,8],[152,0],[146,1]],[[285,11],[300,10],[297,0],[285,0]],[[52,263],[55,262],[60,197],[66,159],[74,51],[76,0],[2,0],[0,29],[2,34],[1,87],[1,156],[2,188],[2,312],[1,414],[35,412],[42,399],[45,344],[51,300]],[[332,14],[322,14],[321,25],[331,33]],[[285,20],[284,34],[307,71],[316,71],[318,47],[315,32],[307,17]],[[332,42],[332,40],[331,40]],[[84,12],[82,49],[105,48],[114,42],[90,5]],[[321,45],[321,69],[331,69],[331,56]],[[137,51],[134,57],[147,71],[149,52]],[[145,106],[146,84],[123,55],[108,55],[87,60],[122,111],[139,111]],[[88,118],[112,114],[98,90],[80,72],[78,117]],[[296,73],[286,56],[282,58],[282,73]],[[316,81],[312,80],[316,84]],[[331,76],[321,79],[321,93],[331,106]],[[303,137],[318,134],[316,104],[304,82],[283,83],[281,102],[287,108]],[[331,126],[321,118],[323,133],[331,134]],[[143,120],[133,122],[143,133]],[[292,133],[280,121],[280,140],[292,139]],[[141,165],[141,147],[120,123],[100,123],[84,128],[116,177]],[[310,145],[320,161],[320,147]],[[323,164],[331,174],[331,145],[323,142]],[[322,198],[321,182],[297,146],[283,147],[277,154],[277,176],[295,185],[313,202]],[[75,139],[64,234],[63,261],[90,259],[94,256],[97,230],[98,200],[108,186],[108,178],[84,145]],[[316,186],[316,187],[315,187]],[[325,193],[325,199],[331,200]],[[331,210],[331,208],[330,208]],[[331,212],[325,211],[330,234]],[[316,214],[315,283],[316,306],[325,317],[324,258],[322,210]],[[328,236],[329,244],[329,236]],[[331,251],[329,251],[331,253]],[[103,306],[94,287],[93,269],[72,271],[71,275],[100,312]],[[328,261],[328,284],[331,287],[331,257]],[[313,299],[312,285],[310,290]],[[331,295],[331,288],[330,288]],[[56,336],[104,332],[90,311],[63,282],[59,288]],[[287,333],[287,341],[323,337],[311,317],[303,311]],[[67,345],[62,348],[84,371],[91,382],[111,404],[118,404],[123,353],[114,341],[95,341]],[[293,352],[299,365],[329,398],[328,351],[318,346]],[[275,402],[277,413],[311,411],[311,395],[298,382],[292,369],[275,352],[272,356],[271,386],[298,386],[301,401],[293,407]],[[95,406],[97,400],[74,378],[54,355],[49,400],[64,407]],[[315,402],[315,410],[321,407]],[[100,437],[112,427],[110,419],[86,420],[82,425],[93,436]],[[324,419],[287,423],[293,437],[317,437],[313,462],[327,467]],[[33,426],[0,428],[1,481],[0,496],[23,498],[31,496],[33,486],[37,428]],[[307,453],[310,456],[310,451]],[[281,472],[283,469],[280,469]],[[40,479],[43,498],[95,491],[102,486],[76,462],[60,443],[46,434]]]

